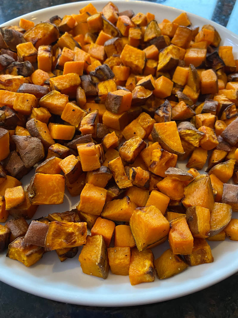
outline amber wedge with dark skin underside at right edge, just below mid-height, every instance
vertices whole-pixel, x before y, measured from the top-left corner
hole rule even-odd
[[[234,165],[235,159],[218,163],[209,170],[208,175],[214,174],[221,182],[226,183],[233,175]]]

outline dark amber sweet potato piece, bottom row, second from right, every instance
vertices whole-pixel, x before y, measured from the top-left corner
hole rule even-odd
[[[159,279],[179,274],[188,267],[188,264],[179,255],[174,255],[171,249],[155,259],[154,264]]]

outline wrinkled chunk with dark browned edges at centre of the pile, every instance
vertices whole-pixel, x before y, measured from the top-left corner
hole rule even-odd
[[[144,148],[146,148],[146,143],[140,137],[132,137],[123,143],[119,155],[122,160],[133,163]]]

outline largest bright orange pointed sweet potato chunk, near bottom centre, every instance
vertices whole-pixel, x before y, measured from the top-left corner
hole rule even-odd
[[[136,208],[129,223],[138,251],[169,233],[169,222],[154,205]]]

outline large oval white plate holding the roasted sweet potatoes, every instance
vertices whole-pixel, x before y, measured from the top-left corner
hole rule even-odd
[[[101,10],[108,1],[93,1],[94,6]],[[137,12],[152,12],[158,22],[164,18],[173,20],[182,11],[157,3],[142,1],[113,1],[119,11],[132,9]],[[59,15],[77,13],[89,1],[67,3],[38,10],[22,17],[35,23],[45,21],[48,18]],[[204,9],[205,10],[205,9]],[[212,24],[220,33],[222,44],[232,45],[234,52],[238,51],[238,39],[235,33],[228,31],[223,26],[188,14],[193,25],[202,26]],[[10,20],[4,25],[18,24],[19,18]],[[178,165],[185,168],[184,164]],[[30,176],[23,178],[23,185],[27,185]],[[72,198],[68,193],[65,195],[63,205],[40,206],[34,218],[48,215],[49,212],[64,212],[74,208],[79,198]],[[233,213],[233,218],[236,213]],[[179,275],[167,280],[155,278],[153,283],[143,283],[131,286],[128,276],[117,276],[109,273],[107,280],[89,276],[82,273],[78,254],[74,259],[67,259],[61,263],[56,252],[48,252],[34,266],[25,267],[22,263],[0,255],[0,280],[17,287],[21,290],[41,297],[72,304],[90,306],[131,306],[142,305],[158,301],[165,301],[191,294],[211,286],[238,271],[237,242],[226,239],[223,242],[209,242],[214,256],[214,262],[200,266],[189,267]],[[155,258],[169,248],[163,244],[153,249]]]

